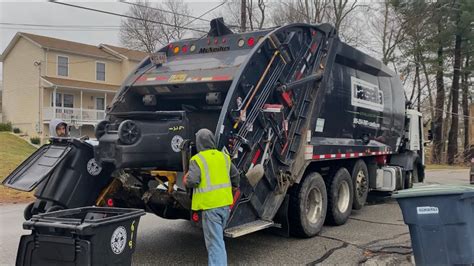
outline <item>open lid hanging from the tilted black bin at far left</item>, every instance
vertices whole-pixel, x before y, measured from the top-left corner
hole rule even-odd
[[[20,164],[2,184],[22,191],[32,191],[71,151],[69,145],[44,145]]]

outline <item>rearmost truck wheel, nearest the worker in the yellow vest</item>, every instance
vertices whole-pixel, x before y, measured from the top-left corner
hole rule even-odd
[[[290,190],[288,216],[291,235],[297,237],[317,235],[324,225],[326,212],[326,185],[320,174],[310,173]]]

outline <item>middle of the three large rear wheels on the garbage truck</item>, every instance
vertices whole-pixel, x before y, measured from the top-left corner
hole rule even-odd
[[[327,180],[328,215],[326,222],[332,225],[344,224],[352,210],[353,185],[351,175],[341,167],[336,174]]]

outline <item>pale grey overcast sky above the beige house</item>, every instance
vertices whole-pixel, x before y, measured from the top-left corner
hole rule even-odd
[[[132,0],[130,0],[132,1]],[[74,5],[106,10],[114,13],[125,14],[130,5],[119,1],[62,1]],[[150,1],[160,2],[160,1]],[[219,0],[190,1],[185,0],[191,11],[191,15],[200,16],[207,10],[219,5]],[[218,10],[216,10],[218,11]],[[204,16],[211,19],[213,12]],[[74,7],[51,3],[48,1],[2,1],[0,0],[0,53],[3,53],[12,38],[19,31],[44,35],[69,41],[98,45],[107,43],[120,45],[119,26],[121,17],[82,10]],[[111,26],[107,30],[91,29],[71,30],[64,28],[51,28],[48,26],[31,27],[14,24],[34,25],[80,25],[80,26]],[[202,24],[202,22],[199,22]],[[204,22],[205,23],[205,22]],[[0,63],[0,73],[2,73]],[[1,79],[1,77],[0,77]]]

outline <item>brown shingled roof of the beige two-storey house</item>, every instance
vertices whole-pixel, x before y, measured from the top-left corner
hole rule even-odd
[[[79,43],[79,42],[72,42],[72,41],[67,41],[63,39],[57,39],[57,38],[52,38],[52,37],[47,37],[47,36],[42,36],[42,35],[36,35],[32,33],[27,33],[27,32],[17,32],[13,40],[9,43],[5,51],[0,57],[0,61],[3,61],[4,58],[8,55],[10,50],[15,46],[16,42],[20,37],[24,37],[25,39],[33,42],[37,46],[41,48],[48,48],[52,50],[58,50],[58,51],[65,51],[65,52],[70,52],[70,53],[75,53],[75,54],[83,54],[83,55],[89,55],[89,56],[94,56],[94,57],[100,57],[100,58],[108,58],[112,60],[120,60],[120,59],[131,59],[131,60],[141,60],[146,56],[146,53],[137,51],[137,50],[130,50],[122,47],[116,47],[112,45],[107,45],[107,47],[110,47],[110,49],[114,50],[118,54],[124,53],[124,56],[118,56],[117,54],[110,53],[104,49],[102,49],[102,45],[90,45],[90,44],[84,44],[84,43]],[[137,59],[138,57],[143,54],[143,57],[141,59]],[[130,57],[129,57],[130,56]]]

